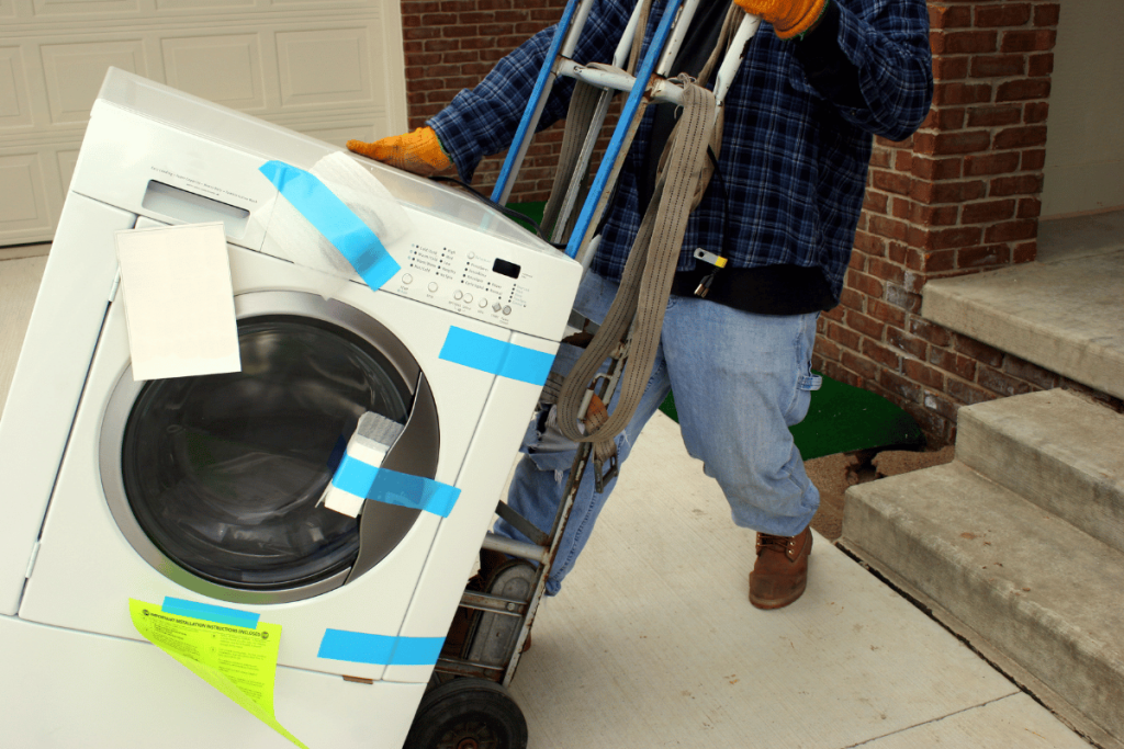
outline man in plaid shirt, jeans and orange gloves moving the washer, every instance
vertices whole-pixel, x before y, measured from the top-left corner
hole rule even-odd
[[[704,0],[673,72],[698,73],[728,1]],[[764,22],[727,94],[718,170],[690,216],[652,376],[617,449],[623,462],[673,390],[688,451],[718,482],[734,522],[756,531],[750,601],[779,609],[806,587],[808,524],[819,503],[788,430],[819,386],[810,371],[816,319],[839,303],[872,135],[900,140],[921,125],[932,101],[932,58],[924,0],[734,1]],[[595,4],[577,62],[611,58],[633,2]],[[661,12],[656,0],[649,35]],[[348,148],[420,174],[455,165],[471,179],[483,156],[510,145],[552,35],[553,27],[528,39],[426,128]],[[571,91],[555,86],[541,127],[564,117]],[[651,108],[637,130],[579,290],[574,309],[595,321],[616,295],[651,198],[669,109]],[[716,271],[697,262],[696,248],[728,264]],[[695,293],[704,280],[705,299]],[[578,354],[563,346],[555,369],[569,371]],[[551,526],[574,448],[550,417],[544,409],[532,423],[508,496],[540,528]],[[551,595],[615,484],[597,494],[589,473],[547,581]],[[502,521],[497,531],[520,538]]]

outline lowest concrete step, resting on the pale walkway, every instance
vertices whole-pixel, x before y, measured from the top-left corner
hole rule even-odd
[[[959,460],[851,487],[840,544],[1124,741],[1124,554]]]

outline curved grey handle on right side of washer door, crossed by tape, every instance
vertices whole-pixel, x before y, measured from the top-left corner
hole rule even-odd
[[[437,403],[424,373],[414,389],[414,405],[402,432],[382,459],[381,468],[433,478],[441,455]],[[359,555],[344,585],[368,572],[393,550],[420,510],[366,500],[359,517]]]

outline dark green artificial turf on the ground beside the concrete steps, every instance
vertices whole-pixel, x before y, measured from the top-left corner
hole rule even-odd
[[[660,410],[679,421],[673,394]],[[830,377],[813,391],[808,415],[790,431],[805,460],[851,450],[925,445],[925,435],[908,413],[881,395]]]

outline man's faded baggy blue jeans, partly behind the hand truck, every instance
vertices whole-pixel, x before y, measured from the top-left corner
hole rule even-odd
[[[587,273],[574,309],[600,322],[617,284]],[[776,536],[796,536],[819,506],[819,492],[788,428],[808,412],[821,378],[812,374],[817,313],[765,316],[691,296],[671,296],[652,376],[628,427],[617,436],[623,464],[641,429],[676,393],[679,428],[688,454],[703,460],[722,487],[734,523]],[[581,349],[563,345],[554,369],[569,372]],[[610,404],[610,410],[611,410]],[[565,488],[575,446],[540,411],[524,438],[507,502],[537,528],[550,530]],[[558,594],[616,485],[593,491],[590,462],[546,583]],[[527,540],[500,520],[496,532]]]

